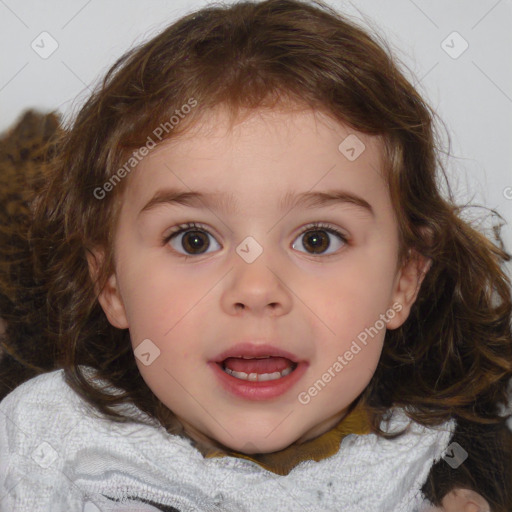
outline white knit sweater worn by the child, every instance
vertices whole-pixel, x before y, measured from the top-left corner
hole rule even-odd
[[[386,429],[407,422],[397,409]],[[25,382],[0,403],[0,511],[423,512],[420,488],[455,428],[351,434],[335,455],[280,476],[246,459],[205,458],[153,424],[94,414],[62,370]]]

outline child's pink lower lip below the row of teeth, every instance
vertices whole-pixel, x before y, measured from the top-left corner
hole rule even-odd
[[[213,372],[226,391],[248,400],[270,400],[283,395],[304,375],[308,367],[307,363],[300,362],[293,372],[284,377],[276,380],[252,382],[229,375],[218,363],[210,361],[208,364],[212,367]]]

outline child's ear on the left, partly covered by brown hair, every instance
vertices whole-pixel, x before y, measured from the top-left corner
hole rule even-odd
[[[127,329],[128,319],[126,317],[126,310],[115,271],[110,275],[102,289],[100,289],[98,283],[99,269],[103,265],[104,255],[105,253],[101,249],[87,251],[89,275],[94,283],[94,291],[96,292],[98,301],[108,321],[118,329]]]

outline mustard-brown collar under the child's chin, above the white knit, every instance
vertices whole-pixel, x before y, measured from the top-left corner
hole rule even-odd
[[[338,452],[341,441],[349,434],[368,434],[371,432],[368,415],[361,403],[355,405],[334,427],[320,436],[304,443],[295,442],[273,453],[252,453],[250,455],[229,450],[225,447],[212,447],[192,440],[194,446],[205,458],[239,457],[251,460],[262,468],[277,475],[287,475],[297,464],[304,460],[320,461]]]

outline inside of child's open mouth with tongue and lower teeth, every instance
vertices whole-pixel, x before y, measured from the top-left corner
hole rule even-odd
[[[217,364],[228,375],[250,382],[282,379],[297,368],[297,363],[276,356],[227,357]]]

